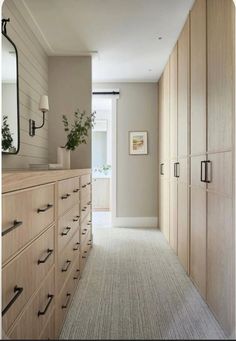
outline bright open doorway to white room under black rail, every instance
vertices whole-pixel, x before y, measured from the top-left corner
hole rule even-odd
[[[93,224],[112,225],[112,98],[93,95],[92,130]]]

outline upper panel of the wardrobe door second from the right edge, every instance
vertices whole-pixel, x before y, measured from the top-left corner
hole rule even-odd
[[[206,0],[191,11],[191,154],[206,152]]]

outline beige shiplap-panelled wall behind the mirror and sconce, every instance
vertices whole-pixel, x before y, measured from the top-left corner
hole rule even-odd
[[[2,166],[28,168],[30,163],[48,162],[48,121],[35,137],[29,136],[28,128],[30,118],[41,123],[38,103],[48,93],[48,57],[12,0],[4,1],[2,17],[11,20],[7,33],[18,50],[20,86],[20,152],[3,155]]]

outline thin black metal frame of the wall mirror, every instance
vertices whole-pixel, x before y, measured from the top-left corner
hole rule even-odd
[[[17,101],[17,103],[16,103],[16,105],[17,105],[17,149],[16,149],[15,152],[5,152],[5,151],[2,151],[2,154],[5,154],[5,155],[16,155],[20,151],[20,101],[19,101],[18,51],[17,51],[16,45],[14,44],[14,42],[7,35],[6,29],[5,29],[5,32],[3,31],[3,25],[2,25],[2,35],[13,45],[13,47],[14,47],[14,49],[16,51],[16,101]]]

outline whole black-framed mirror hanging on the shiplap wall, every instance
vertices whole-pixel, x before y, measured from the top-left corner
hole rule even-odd
[[[20,149],[18,53],[2,19],[2,153]]]

